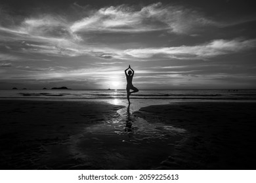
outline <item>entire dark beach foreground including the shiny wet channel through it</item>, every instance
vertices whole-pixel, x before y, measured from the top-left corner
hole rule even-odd
[[[255,169],[256,103],[113,103],[1,100],[1,169]]]

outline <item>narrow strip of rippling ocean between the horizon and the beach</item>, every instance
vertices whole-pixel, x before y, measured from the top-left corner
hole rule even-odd
[[[126,99],[126,90],[0,90],[0,99]],[[140,90],[131,99],[255,101],[256,90]]]

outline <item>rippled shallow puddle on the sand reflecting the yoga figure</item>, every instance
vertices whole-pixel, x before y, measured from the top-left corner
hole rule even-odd
[[[111,121],[85,128],[70,137],[70,153],[92,169],[151,169],[173,151],[186,131],[133,116],[129,107]]]

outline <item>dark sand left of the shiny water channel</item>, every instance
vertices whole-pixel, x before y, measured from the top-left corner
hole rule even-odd
[[[72,169],[70,137],[116,118],[121,106],[102,102],[0,101],[1,169]]]

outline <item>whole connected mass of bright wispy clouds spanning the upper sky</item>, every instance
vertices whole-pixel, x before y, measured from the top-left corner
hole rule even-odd
[[[78,4],[74,3],[74,5],[77,7]],[[81,10],[88,8],[90,7],[80,7]],[[5,19],[13,20],[14,18],[5,13]],[[65,16],[41,14],[24,18],[20,24],[12,24],[9,27],[3,25],[0,25],[0,41],[6,44],[5,48],[19,54],[92,56],[99,59],[121,60],[140,58],[140,61],[153,57],[205,59],[240,52],[255,46],[255,40],[219,39],[196,46],[127,49],[128,46],[111,48],[111,46],[103,46],[108,42],[87,41],[87,37],[92,33],[102,31],[104,33],[137,33],[165,30],[177,34],[197,35],[193,31],[200,27],[219,25],[196,10],[181,6],[164,6],[161,3],[141,8],[128,5],[104,7],[98,10],[91,8],[85,18],[75,22]],[[14,56],[0,55],[1,60],[5,58],[16,59]]]

